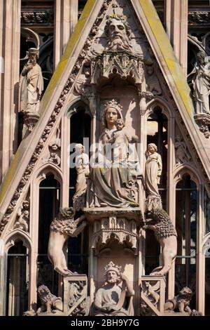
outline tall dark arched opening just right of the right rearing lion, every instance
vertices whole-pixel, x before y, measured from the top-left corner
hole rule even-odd
[[[191,308],[195,308],[196,245],[197,245],[197,186],[189,175],[176,185],[177,256],[175,291],[184,286],[193,290]]]

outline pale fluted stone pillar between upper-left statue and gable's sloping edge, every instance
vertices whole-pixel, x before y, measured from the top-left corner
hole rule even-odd
[[[78,0],[55,1],[54,68],[64,53],[69,38],[78,21]]]

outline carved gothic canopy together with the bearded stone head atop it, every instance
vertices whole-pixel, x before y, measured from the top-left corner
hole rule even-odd
[[[99,78],[109,78],[118,74],[123,79],[130,79],[134,84],[144,84],[144,54],[141,46],[132,44],[132,31],[124,15],[112,14],[106,20],[106,46],[102,53],[91,63],[91,84],[97,84]],[[97,47],[90,49],[98,53]]]

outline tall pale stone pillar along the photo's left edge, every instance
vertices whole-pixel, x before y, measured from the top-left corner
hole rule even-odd
[[[20,0],[0,0],[0,183],[17,147]],[[15,143],[14,143],[15,142]]]

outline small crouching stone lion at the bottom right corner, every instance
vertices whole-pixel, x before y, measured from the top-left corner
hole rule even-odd
[[[188,286],[185,286],[183,289],[181,289],[178,296],[169,299],[165,303],[164,310],[172,311],[178,309],[179,312],[186,312],[189,315],[191,315],[190,300],[192,296],[193,296],[192,290],[188,288]]]

